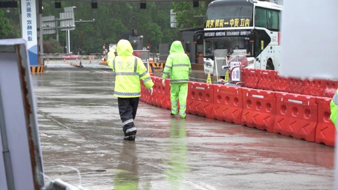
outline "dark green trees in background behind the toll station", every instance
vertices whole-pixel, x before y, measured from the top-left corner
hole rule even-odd
[[[62,2],[62,7],[76,6],[75,20],[93,20],[95,22],[76,23],[70,32],[71,51],[79,48],[85,54],[101,53],[102,44],[117,43],[127,38],[126,32],[137,30],[143,36],[143,45],[150,43],[151,51],[158,52],[160,43],[171,43],[178,38],[179,29],[203,27],[209,2],[201,1],[198,8],[192,2],[147,2],[146,9],[140,9],[139,2],[98,2],[98,8],[92,9],[90,2]],[[177,28],[170,28],[170,9],[176,12]],[[21,38],[20,15],[18,9],[0,9],[0,38]],[[53,1],[43,2],[42,16],[59,17],[64,9],[54,8]],[[43,35],[44,53],[62,53],[66,45],[66,32],[56,35]]]

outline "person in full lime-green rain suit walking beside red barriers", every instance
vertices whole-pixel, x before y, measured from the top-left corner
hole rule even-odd
[[[185,118],[190,74],[190,60],[184,53],[182,43],[180,41],[172,42],[162,76],[163,86],[165,86],[165,79],[170,76],[171,115],[178,113],[177,100],[179,100],[179,115],[181,118]]]

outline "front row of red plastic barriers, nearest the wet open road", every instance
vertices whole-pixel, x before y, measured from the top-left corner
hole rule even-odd
[[[142,83],[141,100],[170,109],[169,79],[165,87],[162,78],[152,80],[153,95]],[[330,102],[327,97],[189,82],[187,113],[333,147],[336,131]]]

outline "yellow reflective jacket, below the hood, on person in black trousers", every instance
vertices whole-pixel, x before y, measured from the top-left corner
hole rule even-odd
[[[141,59],[135,56],[116,56],[113,59],[115,72],[114,96],[133,98],[141,96],[140,79],[146,87],[154,85]]]

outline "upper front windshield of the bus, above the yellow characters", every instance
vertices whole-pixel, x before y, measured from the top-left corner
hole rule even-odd
[[[224,19],[225,21],[235,18],[246,18],[252,21],[253,5],[222,5],[210,6],[207,10],[206,19]],[[250,26],[253,26],[252,22]]]

